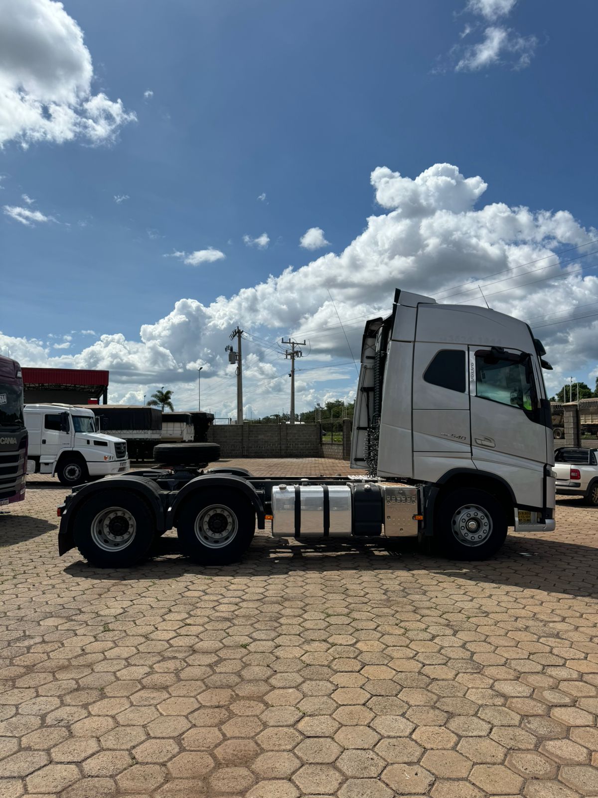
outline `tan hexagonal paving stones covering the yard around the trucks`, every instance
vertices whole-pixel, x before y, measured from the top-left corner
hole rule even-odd
[[[308,467],[345,464],[250,464]],[[596,509],[486,563],[266,531],[97,571],[63,495],[0,516],[0,798],[598,796]]]

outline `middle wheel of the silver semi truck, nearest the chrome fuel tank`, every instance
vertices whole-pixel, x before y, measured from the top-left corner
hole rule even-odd
[[[180,509],[176,531],[183,554],[200,565],[226,565],[242,557],[255,531],[255,510],[234,490],[201,491]]]

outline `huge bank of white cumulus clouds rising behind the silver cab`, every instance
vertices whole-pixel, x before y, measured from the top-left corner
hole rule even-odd
[[[326,394],[343,396],[354,388],[352,365],[340,365],[351,359],[344,332],[357,355],[364,318],[390,312],[396,287],[483,304],[480,283],[490,306],[529,321],[545,342],[555,366],[545,374],[551,391],[565,373],[585,379],[596,368],[598,261],[583,255],[596,249],[584,245],[598,239],[598,231],[582,227],[568,211],[483,205],[482,176],[466,177],[451,164],[435,164],[412,178],[380,167],[371,181],[381,207],[343,251],[287,267],[210,304],[182,298],[163,318],[141,326],[135,340],[116,332],[77,352],[71,346],[58,353],[37,339],[0,335],[0,351],[10,350],[23,365],[109,369],[112,401],[168,385],[181,409],[196,406],[192,369],[205,364],[202,403],[226,416],[234,414],[235,379],[224,346],[239,324],[254,334],[243,344],[244,401],[258,415],[289,407],[288,362],[273,342],[297,334],[311,344],[301,362],[306,370],[297,378],[299,412]],[[572,247],[580,248],[561,259],[553,255]],[[592,311],[593,317],[569,320]],[[562,319],[566,323],[546,326]],[[326,368],[315,370],[322,364]]]

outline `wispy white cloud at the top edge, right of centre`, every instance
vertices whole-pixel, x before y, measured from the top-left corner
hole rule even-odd
[[[479,34],[479,41],[454,45],[450,56],[457,72],[477,72],[494,65],[508,65],[511,69],[529,66],[538,45],[536,36],[522,36],[516,30],[498,24],[509,16],[517,0],[469,0],[465,11],[482,18],[466,23],[459,34],[463,40],[470,34]],[[468,40],[470,41],[470,40]]]

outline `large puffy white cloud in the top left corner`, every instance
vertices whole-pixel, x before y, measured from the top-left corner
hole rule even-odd
[[[92,94],[92,57],[61,2],[4,0],[0,53],[0,147],[74,139],[101,144],[136,120],[122,101]]]

